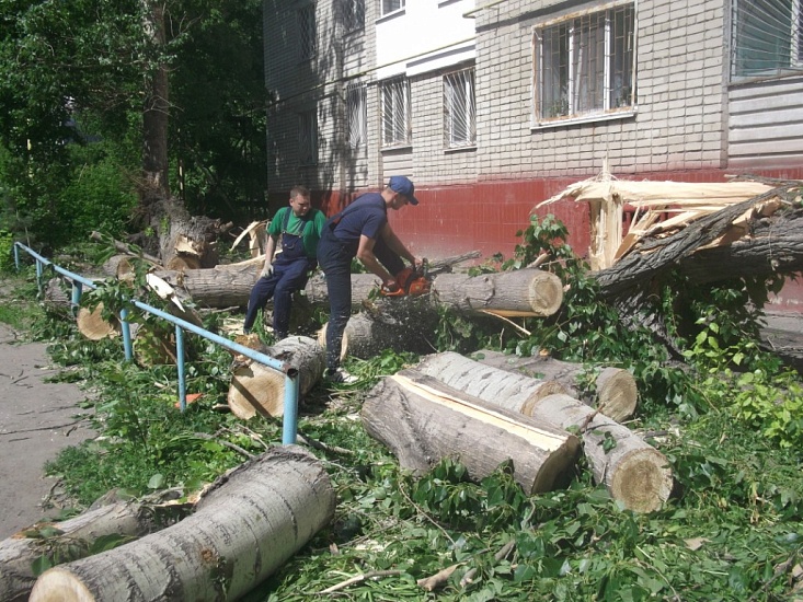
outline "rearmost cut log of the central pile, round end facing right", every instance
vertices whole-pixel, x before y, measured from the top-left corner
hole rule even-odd
[[[550,356],[520,357],[483,349],[473,356],[480,363],[508,370],[543,381],[558,381],[565,393],[582,401],[594,402],[599,412],[621,422],[632,417],[639,401],[633,375],[621,368],[592,369],[595,395],[588,395],[581,385],[587,369],[580,363],[557,360]]]

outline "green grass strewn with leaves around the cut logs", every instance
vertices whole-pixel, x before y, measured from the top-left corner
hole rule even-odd
[[[22,285],[21,300],[31,291]],[[39,311],[21,306],[12,317],[25,325]],[[233,445],[259,453],[280,441],[275,421],[243,424],[214,409],[225,402],[228,354],[206,349],[188,367],[187,390],[204,395],[182,414],[174,407],[174,367],[139,369],[121,361],[118,345],[87,345],[64,324],[37,328],[39,336],[58,334],[53,357],[97,391],[94,427],[102,438],[48,466],[78,509],[111,488],[135,496],[192,490],[244,460]],[[335,519],[245,600],[803,599],[799,445],[779,445],[726,405],[679,414],[679,404],[656,398],[643,400],[650,413],[631,428],[656,433],[650,441],[677,482],[657,512],[623,510],[582,463],[567,488],[536,496],[524,495],[507,466],[474,483],[446,460],[413,477],[367,435],[359,409],[382,375],[415,360],[390,352],[349,360],[358,384],[307,396],[299,431],[329,448],[313,452],[337,494]],[[726,398],[724,385],[716,386],[716,398]],[[437,591],[416,583],[450,566]],[[366,575],[378,577],[321,593]]]

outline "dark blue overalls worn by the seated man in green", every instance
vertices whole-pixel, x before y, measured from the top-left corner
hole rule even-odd
[[[273,297],[273,331],[276,338],[284,338],[290,328],[292,293],[307,286],[309,271],[316,262],[307,257],[300,236],[282,234],[282,253],[273,264],[273,274],[260,278],[249,297],[243,331],[250,332],[256,321],[256,312],[264,310]]]

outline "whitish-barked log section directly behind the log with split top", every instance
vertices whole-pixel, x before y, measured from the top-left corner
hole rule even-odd
[[[543,381],[484,366],[460,354],[446,351],[424,358],[415,370],[497,407],[529,416],[539,400],[566,393],[558,381]]]

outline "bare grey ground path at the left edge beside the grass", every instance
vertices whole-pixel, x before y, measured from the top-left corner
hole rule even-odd
[[[44,465],[94,435],[87,410],[78,407],[88,393],[76,384],[46,382],[58,373],[46,347],[20,344],[0,323],[0,540],[58,516],[60,508],[51,503],[58,481],[45,477]]]

